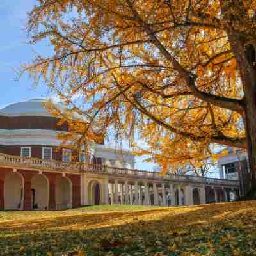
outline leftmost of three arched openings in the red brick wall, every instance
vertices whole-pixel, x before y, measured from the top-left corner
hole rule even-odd
[[[4,209],[20,210],[23,208],[24,180],[20,173],[10,172],[4,179]]]

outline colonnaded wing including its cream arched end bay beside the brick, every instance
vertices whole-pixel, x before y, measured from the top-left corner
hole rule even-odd
[[[228,202],[239,195],[238,186],[233,188],[228,185],[221,187],[218,183],[210,186],[200,182],[136,180],[84,174],[81,182],[81,205],[175,206]],[[233,198],[230,193],[234,194]]]

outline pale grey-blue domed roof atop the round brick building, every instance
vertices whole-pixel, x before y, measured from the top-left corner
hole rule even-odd
[[[31,99],[17,102],[0,109],[0,115],[5,116],[52,116],[42,105],[46,99]]]

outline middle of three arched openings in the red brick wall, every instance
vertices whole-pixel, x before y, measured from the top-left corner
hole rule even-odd
[[[49,180],[44,174],[33,175],[31,179],[31,200],[32,209],[48,209]]]

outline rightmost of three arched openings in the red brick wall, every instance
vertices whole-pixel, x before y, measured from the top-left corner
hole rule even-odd
[[[57,210],[72,207],[72,182],[67,177],[56,179],[56,208]]]

